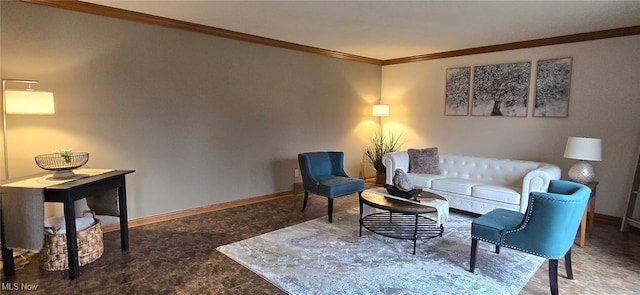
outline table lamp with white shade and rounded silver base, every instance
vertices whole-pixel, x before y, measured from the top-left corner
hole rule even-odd
[[[569,179],[588,183],[596,177],[593,166],[587,161],[601,160],[602,144],[599,138],[569,137],[564,149],[564,157],[580,160],[569,168]]]

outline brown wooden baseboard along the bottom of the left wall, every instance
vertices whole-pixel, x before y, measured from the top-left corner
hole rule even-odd
[[[177,218],[182,218],[182,217],[187,217],[187,216],[192,216],[192,215],[197,215],[197,214],[202,214],[207,212],[213,212],[213,211],[218,211],[218,210],[223,210],[223,209],[228,209],[233,207],[255,204],[255,203],[265,202],[269,200],[275,200],[279,198],[288,197],[291,195],[294,195],[293,191],[285,191],[285,192],[279,192],[275,194],[269,194],[269,195],[235,200],[235,201],[230,201],[225,203],[191,208],[191,209],[186,209],[182,211],[175,211],[175,212],[169,212],[165,214],[131,219],[129,220],[129,228],[134,228],[134,227],[148,225],[148,224],[154,224],[158,222],[163,222],[163,221],[168,221],[168,220],[173,220]],[[101,228],[102,228],[102,232],[118,231],[120,230],[120,224],[119,223],[107,224],[107,225],[103,225]]]

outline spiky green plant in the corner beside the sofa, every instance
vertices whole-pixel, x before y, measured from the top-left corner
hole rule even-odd
[[[400,149],[402,145],[400,137],[402,137],[402,133],[396,131],[388,132],[386,135],[380,131],[371,138],[371,145],[365,151],[369,162],[376,169],[376,184],[378,185],[384,185],[386,180],[386,168],[382,164],[382,156]]]

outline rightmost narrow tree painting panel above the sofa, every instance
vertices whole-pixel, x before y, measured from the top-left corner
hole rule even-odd
[[[571,58],[538,61],[534,117],[567,117]]]

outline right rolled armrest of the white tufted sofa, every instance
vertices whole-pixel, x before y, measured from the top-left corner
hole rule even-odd
[[[537,169],[529,171],[522,179],[520,212],[524,213],[527,210],[531,192],[546,192],[551,180],[560,179],[561,172],[560,167],[547,163],[540,163]]]

